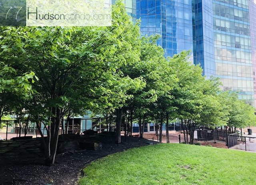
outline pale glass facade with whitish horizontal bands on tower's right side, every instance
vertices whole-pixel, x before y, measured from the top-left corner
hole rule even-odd
[[[215,76],[222,90],[239,92],[254,105],[252,46],[248,0],[213,2]]]

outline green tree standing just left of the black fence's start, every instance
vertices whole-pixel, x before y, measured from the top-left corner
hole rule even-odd
[[[188,135],[190,139],[194,137],[193,129],[202,111],[203,92],[200,84],[205,80],[202,76],[202,68],[188,61],[189,53],[182,51],[169,59],[178,78],[178,84],[172,91],[174,95],[172,106],[177,108],[175,114],[181,119],[185,143],[188,143]]]

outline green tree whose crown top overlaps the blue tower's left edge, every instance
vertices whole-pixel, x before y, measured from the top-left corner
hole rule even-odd
[[[141,37],[140,60],[124,68],[124,74],[131,78],[142,77],[146,86],[140,91],[130,92],[133,98],[128,101],[127,109],[130,112],[130,122],[135,111],[135,118],[138,119],[140,137],[143,137],[146,117],[150,106],[154,104],[161,95],[168,94],[171,89],[172,73],[168,61],[164,58],[164,50],[156,44],[159,35]],[[169,81],[168,81],[169,80]],[[166,83],[166,81],[168,81]],[[171,83],[171,82],[170,82]]]

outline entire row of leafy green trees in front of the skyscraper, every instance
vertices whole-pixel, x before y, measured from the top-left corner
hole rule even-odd
[[[147,121],[160,125],[160,142],[163,123],[176,118],[187,128],[255,123],[254,108],[233,93],[220,93],[218,79],[206,80],[202,68],[188,61],[190,52],[166,59],[156,44],[159,36],[141,37],[139,22],[132,23],[120,2],[109,27],[0,32],[1,115],[25,110],[38,128],[40,122],[47,126],[46,165],[54,163],[61,119],[89,109],[106,121],[115,115],[116,143],[122,122],[129,127],[134,120],[141,137]]]

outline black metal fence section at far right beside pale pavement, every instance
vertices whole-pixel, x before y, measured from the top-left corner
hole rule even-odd
[[[245,137],[238,133],[232,133],[228,135],[228,148],[256,152],[256,137]]]

